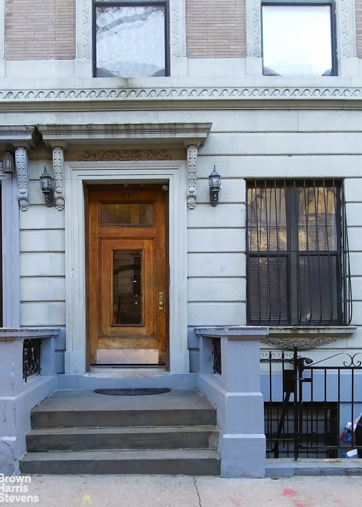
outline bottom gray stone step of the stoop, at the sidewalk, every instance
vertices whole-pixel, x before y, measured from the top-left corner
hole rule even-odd
[[[28,452],[23,474],[220,475],[216,449]]]

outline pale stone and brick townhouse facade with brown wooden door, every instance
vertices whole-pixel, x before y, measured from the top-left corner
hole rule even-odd
[[[200,327],[360,351],[360,0],[6,0],[0,26],[4,470],[56,390],[197,387]]]

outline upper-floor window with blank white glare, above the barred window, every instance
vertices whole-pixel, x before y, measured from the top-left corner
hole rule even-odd
[[[335,75],[334,4],[262,0],[263,74]]]

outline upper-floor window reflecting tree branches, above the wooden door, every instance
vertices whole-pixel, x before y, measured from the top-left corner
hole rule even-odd
[[[169,75],[168,39],[167,1],[93,1],[94,77]]]

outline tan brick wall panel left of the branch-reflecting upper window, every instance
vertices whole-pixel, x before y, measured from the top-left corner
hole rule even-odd
[[[7,60],[75,57],[75,0],[6,0]]]

